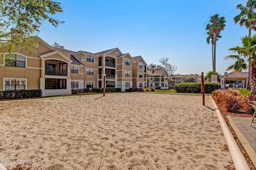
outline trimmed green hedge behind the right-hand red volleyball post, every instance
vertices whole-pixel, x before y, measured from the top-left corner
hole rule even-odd
[[[206,94],[211,94],[214,90],[218,90],[220,85],[218,83],[204,83]],[[175,84],[176,92],[190,92],[201,93],[201,83],[178,83]]]

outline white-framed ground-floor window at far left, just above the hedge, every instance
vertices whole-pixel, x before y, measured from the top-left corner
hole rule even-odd
[[[25,90],[26,80],[22,79],[6,79],[5,90]]]

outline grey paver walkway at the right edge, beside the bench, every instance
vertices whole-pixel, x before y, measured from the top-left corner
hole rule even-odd
[[[250,117],[231,117],[237,126],[238,130],[244,135],[250,146],[256,152],[256,128],[251,125],[252,118]],[[256,126],[256,120],[253,123]]]

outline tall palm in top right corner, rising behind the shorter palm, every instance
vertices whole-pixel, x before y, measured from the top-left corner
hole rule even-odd
[[[239,9],[241,12],[235,16],[234,21],[235,23],[238,23],[241,26],[245,26],[248,30],[248,37],[251,37],[252,30],[256,29],[256,1],[255,0],[249,0],[246,2],[246,6],[243,6],[242,4],[238,4],[236,6],[237,9]],[[248,68],[248,81],[247,81],[247,89],[250,89],[250,77],[251,77],[251,68],[249,64]]]

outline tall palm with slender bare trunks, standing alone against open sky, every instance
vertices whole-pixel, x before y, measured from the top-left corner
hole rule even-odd
[[[216,43],[218,40],[218,36],[220,36],[220,31],[224,30],[225,27],[226,27],[225,17],[223,16],[220,17],[219,14],[215,14],[211,16],[210,23],[206,25],[206,30],[209,31],[207,32],[207,34],[210,36],[210,39],[212,39],[212,44],[213,44],[212,70],[214,72],[216,72]]]

